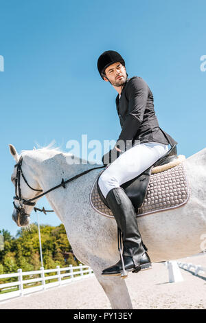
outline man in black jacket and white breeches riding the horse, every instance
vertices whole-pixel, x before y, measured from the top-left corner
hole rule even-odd
[[[123,261],[102,271],[103,275],[121,275],[151,267],[150,258],[137,226],[135,209],[120,186],[134,179],[168,152],[168,144],[177,144],[160,127],[155,115],[153,96],[146,82],[137,76],[128,78],[125,62],[115,51],[98,58],[100,76],[118,92],[117,113],[122,131],[109,153],[102,157],[109,164],[99,178],[98,186],[111,208],[122,232]]]

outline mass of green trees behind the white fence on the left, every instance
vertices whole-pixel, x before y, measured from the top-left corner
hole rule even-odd
[[[53,269],[57,265],[60,267],[78,265],[78,260],[72,254],[64,225],[57,227],[41,225],[40,230],[45,269]],[[4,237],[4,250],[0,251],[0,270],[4,274],[16,272],[19,268],[23,271],[40,269],[37,223],[30,225],[30,230],[21,228],[15,238],[7,230],[0,232]],[[67,261],[65,261],[66,253],[67,255],[69,253]]]

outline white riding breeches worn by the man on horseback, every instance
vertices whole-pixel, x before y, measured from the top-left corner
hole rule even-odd
[[[113,188],[119,188],[155,164],[169,151],[169,145],[159,142],[137,144],[119,155],[100,175],[98,184],[104,197]]]

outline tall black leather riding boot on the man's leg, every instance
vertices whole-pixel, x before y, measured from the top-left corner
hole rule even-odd
[[[113,212],[117,226],[122,231],[123,259],[126,271],[138,272],[151,267],[150,258],[141,240],[133,203],[123,188],[113,188],[106,195],[106,203]],[[115,265],[102,271],[102,275],[119,276],[123,266],[120,259]]]

